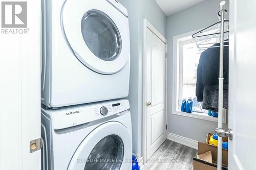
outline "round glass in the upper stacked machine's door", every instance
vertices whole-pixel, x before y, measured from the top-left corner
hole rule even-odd
[[[113,20],[99,10],[83,15],[81,31],[91,52],[104,61],[115,60],[121,52],[121,36]]]

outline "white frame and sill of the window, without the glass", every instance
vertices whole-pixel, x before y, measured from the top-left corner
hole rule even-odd
[[[178,109],[179,99],[182,99],[182,86],[183,86],[183,45],[204,39],[204,37],[193,38],[192,35],[195,30],[188,33],[180,34],[173,37],[173,99],[172,99],[172,113],[180,116],[198,118],[218,122],[218,117],[209,116],[207,113],[185,113]],[[226,124],[227,110],[223,110],[223,123]]]

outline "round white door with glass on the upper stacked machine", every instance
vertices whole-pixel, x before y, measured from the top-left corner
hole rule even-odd
[[[107,1],[67,0],[62,8],[63,33],[74,55],[101,74],[118,72],[129,59],[129,26],[123,19]]]

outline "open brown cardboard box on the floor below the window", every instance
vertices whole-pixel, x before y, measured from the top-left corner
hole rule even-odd
[[[193,158],[194,170],[217,170],[217,157],[218,157],[218,148],[214,145],[208,144],[210,136],[212,134],[208,133],[206,138],[206,143],[198,142],[198,157]],[[223,141],[228,141],[228,138],[223,138]],[[212,163],[210,163],[209,153],[211,153]],[[204,155],[201,155],[204,154]],[[206,160],[203,160],[206,159]],[[222,169],[227,170],[227,161],[228,161],[228,151],[222,149]]]

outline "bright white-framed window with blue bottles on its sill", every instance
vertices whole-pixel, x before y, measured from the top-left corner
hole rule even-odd
[[[195,103],[192,114],[180,110],[182,99],[196,98],[197,66],[201,53],[208,46],[219,41],[218,38],[205,39],[205,37],[200,37],[193,39],[192,34],[195,32],[197,31],[174,37],[173,113],[218,122],[218,118],[208,116],[207,110],[202,109],[202,102]],[[223,120],[225,119],[226,122],[225,111],[223,115]]]

